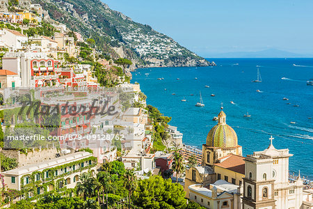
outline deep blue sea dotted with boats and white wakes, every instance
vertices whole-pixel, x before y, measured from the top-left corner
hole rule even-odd
[[[313,59],[209,61],[217,66],[138,69],[131,82],[141,84],[147,104],[172,118],[170,125],[184,134],[184,144],[202,148],[223,102],[226,122],[236,131],[243,155],[266,149],[273,135],[275,148],[289,148],[294,154],[289,158],[290,173],[300,169],[302,176],[312,179],[313,86],[306,81],[313,78]],[[257,66],[261,83],[251,82],[257,79]],[[200,91],[205,107],[195,107]],[[187,101],[181,102],[184,98]],[[247,112],[250,118],[243,117]]]

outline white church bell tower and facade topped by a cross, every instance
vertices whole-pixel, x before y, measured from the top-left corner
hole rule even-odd
[[[302,208],[303,180],[289,181],[288,149],[266,150],[247,155],[243,178],[243,209]],[[299,174],[300,175],[300,174]],[[305,208],[306,209],[306,208]]]

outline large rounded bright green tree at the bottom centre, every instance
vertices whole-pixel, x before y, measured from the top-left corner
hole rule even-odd
[[[186,208],[185,195],[182,185],[152,176],[138,182],[133,201],[141,208]]]

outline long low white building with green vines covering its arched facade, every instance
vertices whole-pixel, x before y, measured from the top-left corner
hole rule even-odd
[[[3,172],[10,189],[29,189],[29,197],[63,187],[74,188],[79,175],[91,169],[95,174],[97,162],[93,154],[72,153],[52,160],[29,164]],[[36,183],[38,182],[38,184]],[[32,184],[31,184],[32,183]]]

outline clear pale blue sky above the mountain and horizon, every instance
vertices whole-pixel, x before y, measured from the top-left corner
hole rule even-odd
[[[275,48],[313,54],[312,0],[102,0],[201,56]]]

